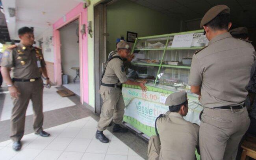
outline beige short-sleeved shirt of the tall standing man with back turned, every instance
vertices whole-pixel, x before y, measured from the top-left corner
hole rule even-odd
[[[189,85],[201,86],[203,107],[214,108],[242,104],[255,59],[249,42],[224,33],[193,56]]]

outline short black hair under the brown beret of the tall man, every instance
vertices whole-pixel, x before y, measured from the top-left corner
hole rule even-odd
[[[228,23],[230,22],[229,14],[217,15],[213,20],[205,24],[204,26],[209,26],[213,30],[228,30]]]

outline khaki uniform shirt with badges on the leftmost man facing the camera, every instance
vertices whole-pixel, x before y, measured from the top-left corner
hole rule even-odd
[[[17,79],[40,77],[40,67],[45,65],[41,49],[36,47],[26,48],[22,44],[18,44],[16,47],[4,51],[0,64],[0,66],[11,68],[13,78]]]

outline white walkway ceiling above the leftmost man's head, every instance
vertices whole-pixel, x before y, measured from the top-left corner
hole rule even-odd
[[[41,35],[49,26],[63,17],[70,9],[83,0],[1,0],[11,39],[19,40],[19,28],[34,27],[35,37]],[[9,17],[7,9],[14,7],[15,17]]]

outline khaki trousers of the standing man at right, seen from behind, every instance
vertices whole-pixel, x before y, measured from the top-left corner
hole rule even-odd
[[[243,109],[207,109],[201,116],[199,147],[201,160],[236,160],[239,142],[250,125]]]

